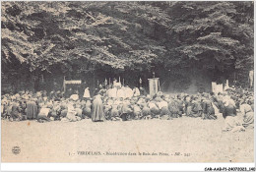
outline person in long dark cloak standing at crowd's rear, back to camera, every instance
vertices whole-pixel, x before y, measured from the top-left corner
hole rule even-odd
[[[97,94],[95,100],[93,101],[92,121],[97,122],[104,120],[103,103],[101,96]]]

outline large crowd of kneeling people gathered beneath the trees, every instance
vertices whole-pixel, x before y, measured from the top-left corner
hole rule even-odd
[[[254,123],[253,90],[229,89],[215,94],[150,95],[142,86],[99,86],[91,92],[86,87],[82,96],[78,90],[20,91],[2,95],[1,116],[10,121],[37,120],[75,122],[83,119],[97,121],[173,120],[183,116],[216,120],[223,113],[224,131],[235,127],[247,128]],[[92,95],[92,96],[91,96]]]

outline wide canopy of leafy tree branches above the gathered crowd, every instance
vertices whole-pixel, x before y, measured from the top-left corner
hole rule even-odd
[[[1,30],[3,69],[253,69],[249,1],[2,2]]]

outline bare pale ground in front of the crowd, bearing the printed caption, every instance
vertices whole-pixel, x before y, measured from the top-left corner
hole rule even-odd
[[[220,115],[216,121],[188,117],[102,123],[2,120],[2,161],[253,162],[254,131],[224,133],[223,125]],[[12,153],[13,146],[20,146],[21,152]]]

